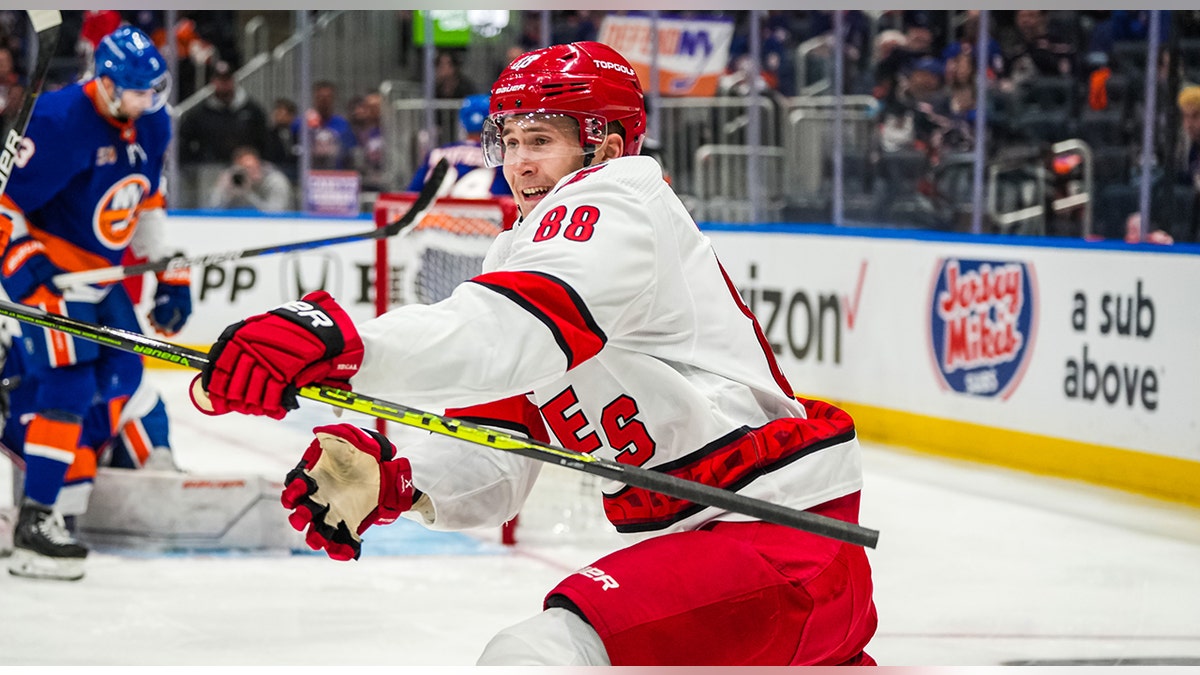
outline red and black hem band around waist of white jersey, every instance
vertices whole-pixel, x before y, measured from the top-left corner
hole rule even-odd
[[[686,480],[737,491],[756,478],[854,438],[850,414],[823,401],[800,400],[809,417],[743,426],[676,461],[653,467]],[[626,486],[604,496],[605,514],[618,532],[650,532],[703,510],[678,497]]]

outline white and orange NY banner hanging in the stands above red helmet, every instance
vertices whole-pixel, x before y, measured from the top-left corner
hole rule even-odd
[[[659,94],[715,96],[730,61],[733,20],[660,17],[658,29]],[[650,17],[606,16],[598,41],[620,52],[634,66],[642,88],[650,89]]]

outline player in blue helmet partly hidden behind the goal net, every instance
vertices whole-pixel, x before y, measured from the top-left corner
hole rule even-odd
[[[410,192],[419,192],[425,185],[425,177],[443,157],[458,172],[457,180],[449,187],[448,193],[439,197],[462,197],[479,199],[484,197],[511,197],[509,181],[504,180],[504,172],[494,167],[488,167],[484,162],[484,149],[479,137],[484,131],[484,120],[487,119],[487,94],[476,94],[462,100],[458,108],[458,123],[462,126],[464,138],[455,143],[434,148],[425,157],[425,163],[413,174],[409,183]],[[442,189],[448,190],[446,187]]]

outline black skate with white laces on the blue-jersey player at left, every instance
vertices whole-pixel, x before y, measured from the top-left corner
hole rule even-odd
[[[62,515],[36,502],[20,506],[8,573],[31,579],[83,579],[84,546],[67,531]]]

